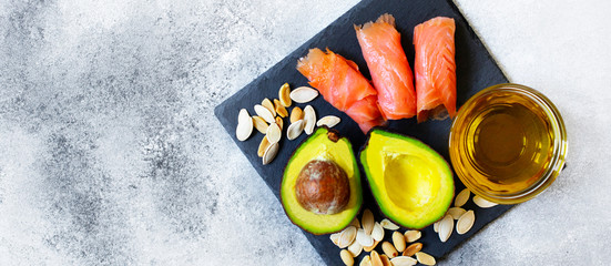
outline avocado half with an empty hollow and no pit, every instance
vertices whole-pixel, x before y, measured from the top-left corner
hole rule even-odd
[[[373,130],[360,163],[381,212],[394,222],[420,229],[440,219],[454,197],[448,163],[422,142]]]

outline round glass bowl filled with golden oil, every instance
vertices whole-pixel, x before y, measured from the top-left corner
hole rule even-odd
[[[548,187],[564,164],[562,117],[541,93],[518,84],[488,88],[460,109],[450,158],[473,193],[513,204]]]

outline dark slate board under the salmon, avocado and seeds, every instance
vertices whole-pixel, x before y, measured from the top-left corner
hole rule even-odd
[[[365,60],[361,57],[353,24],[363,24],[367,21],[376,20],[380,14],[386,12],[391,13],[396,18],[397,29],[401,33],[403,45],[411,66],[414,64],[414,45],[411,44],[414,27],[438,16],[455,19],[457,24],[457,106],[460,106],[465,103],[465,101],[467,101],[467,99],[487,86],[508,82],[507,78],[482,45],[469,23],[465,20],[458,8],[450,0],[361,1],[338,18],[335,22],[329,24],[322,32],[279,61],[272,69],[267,70],[244,89],[221,103],[214,110],[216,116],[227,133],[253,164],[253,167],[267,183],[276,197],[279,195],[279,185],[284,165],[288,161],[288,157],[295,147],[306,137],[306,135],[304,133],[294,141],[287,141],[283,137],[281,141],[281,150],[276,158],[269,165],[262,165],[262,160],[257,157],[256,151],[263,135],[255,130],[255,133],[253,133],[253,135],[245,142],[240,142],[235,137],[238,111],[242,108],[246,108],[248,112],[254,115],[255,113],[253,106],[261,103],[264,98],[277,98],[277,91],[285,82],[288,82],[292,88],[306,85],[307,80],[295,70],[295,65],[297,59],[307,54],[307,51],[310,48],[329,48],[334,52],[355,61],[359,65],[364,75],[370,78]],[[342,123],[335,126],[335,130],[339,131],[340,134],[347,136],[352,141],[356,154],[358,149],[360,149],[365,142],[365,134],[360,132],[358,125],[344,113],[337,111],[330,104],[325,102],[322,96],[318,96],[309,104],[314,106],[318,117],[333,114],[342,119]],[[305,106],[305,104],[297,105],[302,109]],[[288,124],[287,119],[285,119],[285,124]],[[450,124],[450,120],[428,121],[417,124],[416,119],[409,119],[393,121],[389,123],[388,127],[391,131],[400,132],[421,140],[439,152],[449,162],[448,135]],[[287,126],[285,126],[285,131],[286,127]],[[364,174],[361,174],[361,176],[363,178],[366,178]],[[458,193],[465,186],[456,176],[455,181],[456,193]],[[370,208],[376,216],[376,221],[380,221],[383,215],[371,197],[369,187],[366,185],[367,182],[363,180],[363,184],[365,197],[364,208]],[[476,234],[488,223],[507,212],[510,207],[511,206],[499,205],[482,209],[477,207],[472,201],[469,201],[465,208],[473,209],[476,212],[476,223],[471,231],[465,235],[458,235],[455,232],[448,242],[441,243],[437,234],[432,231],[432,226],[428,226],[422,229],[422,238],[419,241],[425,246],[422,250],[435,256],[436,258],[441,258],[457,245]],[[403,228],[401,232],[405,228]],[[387,231],[386,233],[385,238],[389,238],[389,232]],[[307,232],[304,232],[304,234],[328,265],[343,265],[339,258],[339,248],[329,241],[328,235],[315,236]],[[381,250],[380,246],[376,249]],[[364,256],[364,254],[365,253],[359,256],[359,259]]]

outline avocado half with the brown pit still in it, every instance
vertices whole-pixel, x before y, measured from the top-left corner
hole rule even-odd
[[[316,168],[313,171],[313,167]],[[313,186],[318,175],[328,173],[334,174],[326,180],[327,182],[319,187]],[[313,177],[304,181],[308,175]],[[306,201],[308,195],[322,195],[318,201],[344,198],[338,200],[343,202],[342,206],[333,203],[333,207],[329,208],[313,208],[304,204],[303,195],[298,197],[299,187],[306,192]],[[308,190],[304,187],[309,192],[314,190],[314,193],[307,194]],[[281,185],[281,202],[291,222],[312,234],[335,233],[348,226],[363,203],[360,174],[348,139],[340,137],[336,131],[326,126],[319,127],[307,137],[286,164]]]

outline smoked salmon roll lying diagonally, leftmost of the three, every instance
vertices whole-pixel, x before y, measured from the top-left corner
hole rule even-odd
[[[323,52],[315,48],[297,61],[297,71],[327,102],[350,116],[364,133],[386,122],[377,105],[376,90],[353,61],[328,49]]]

